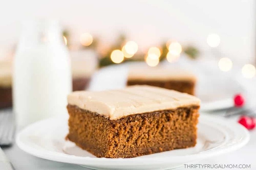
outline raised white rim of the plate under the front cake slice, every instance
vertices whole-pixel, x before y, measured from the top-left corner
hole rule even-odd
[[[64,162],[64,163],[73,163],[73,164],[79,164],[79,165],[88,165],[88,166],[94,166],[95,164],[99,163],[99,161],[102,163],[102,165],[113,165],[116,164],[116,161],[120,161],[122,164],[124,163],[125,165],[141,165],[143,164],[143,161],[147,161],[147,164],[162,164],[162,163],[170,163],[170,160],[167,161],[166,159],[160,160],[159,158],[157,159],[156,157],[154,158],[145,158],[145,157],[135,157],[135,158],[97,158],[97,157],[81,157],[81,156],[75,156],[75,155],[69,155],[69,154],[64,154],[64,153],[58,153],[54,151],[49,151],[46,149],[38,150],[37,148],[33,146],[29,146],[25,143],[22,142],[21,138],[23,135],[26,135],[27,131],[30,131],[30,129],[34,129],[34,126],[39,126],[41,124],[45,124],[45,122],[49,121],[55,121],[57,118],[49,118],[49,119],[44,119],[40,120],[38,122],[32,123],[29,126],[25,127],[21,131],[19,131],[18,135],[16,136],[16,144],[18,147],[25,151],[26,153],[29,153],[31,155],[34,155],[35,157],[43,158],[43,159],[48,159],[52,161],[57,161],[57,162]],[[218,124],[217,122],[221,122],[221,124],[225,123],[226,127],[229,127],[229,129],[232,129],[232,131],[240,131],[243,134],[243,138],[241,139],[240,142],[238,143],[233,143],[230,146],[227,146],[224,149],[217,149],[217,150],[207,150],[195,154],[189,154],[189,155],[171,155],[169,157],[166,157],[168,159],[171,159],[172,162],[180,162],[180,160],[188,160],[185,162],[193,161],[196,159],[204,159],[216,155],[220,155],[223,153],[228,153],[230,151],[234,151],[237,149],[240,149],[242,146],[246,145],[246,143],[249,141],[249,132],[245,127],[242,125],[224,120],[223,118],[217,118],[211,115],[200,115],[200,119],[203,120],[211,120],[212,123]],[[232,128],[230,128],[232,127]],[[235,130],[233,130],[235,129]],[[72,158],[72,159],[70,159]],[[162,158],[162,157],[161,157]],[[157,161],[156,161],[157,159]],[[150,163],[151,162],[151,163]],[[184,162],[184,161],[181,161]],[[118,163],[119,164],[119,163]]]

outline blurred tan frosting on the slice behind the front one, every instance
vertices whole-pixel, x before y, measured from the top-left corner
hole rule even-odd
[[[185,80],[196,81],[196,76],[179,68],[133,66],[129,68],[128,80]]]

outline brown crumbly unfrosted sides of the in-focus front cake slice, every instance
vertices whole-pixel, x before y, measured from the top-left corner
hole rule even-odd
[[[97,157],[131,158],[196,145],[199,106],[110,120],[68,105],[67,139]]]

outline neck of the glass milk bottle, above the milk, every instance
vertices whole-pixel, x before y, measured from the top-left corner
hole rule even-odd
[[[59,23],[54,20],[25,21],[18,50],[45,45],[64,45]]]

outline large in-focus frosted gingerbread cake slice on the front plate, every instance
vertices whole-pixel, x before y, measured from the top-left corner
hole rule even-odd
[[[67,139],[96,157],[131,158],[193,147],[200,100],[153,86],[68,95]]]

